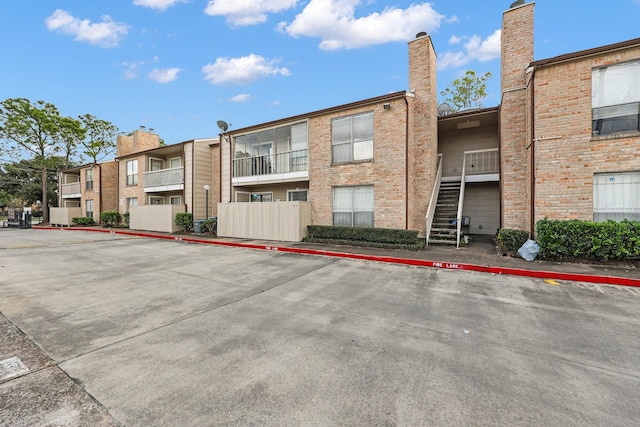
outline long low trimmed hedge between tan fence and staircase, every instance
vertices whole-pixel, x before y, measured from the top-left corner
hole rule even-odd
[[[418,239],[415,230],[309,225],[307,231],[307,242],[412,250],[424,247],[424,240]]]

